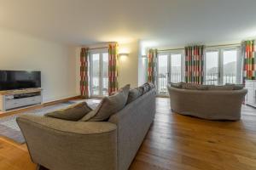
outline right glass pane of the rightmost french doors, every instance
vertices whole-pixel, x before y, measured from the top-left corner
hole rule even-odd
[[[236,83],[237,50],[226,50],[223,54],[223,82]]]

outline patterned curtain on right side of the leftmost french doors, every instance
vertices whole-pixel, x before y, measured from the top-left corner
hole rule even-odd
[[[118,43],[108,47],[108,94],[118,90]]]

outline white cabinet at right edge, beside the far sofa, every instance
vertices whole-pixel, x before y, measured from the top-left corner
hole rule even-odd
[[[256,107],[256,80],[246,80],[248,93],[246,97],[246,104]]]

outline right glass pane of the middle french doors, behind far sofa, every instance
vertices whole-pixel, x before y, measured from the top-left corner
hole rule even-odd
[[[182,55],[171,55],[171,82],[181,82]]]

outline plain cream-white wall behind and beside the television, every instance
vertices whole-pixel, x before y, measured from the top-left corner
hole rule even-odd
[[[76,93],[74,48],[0,28],[0,70],[41,71],[43,101]]]

